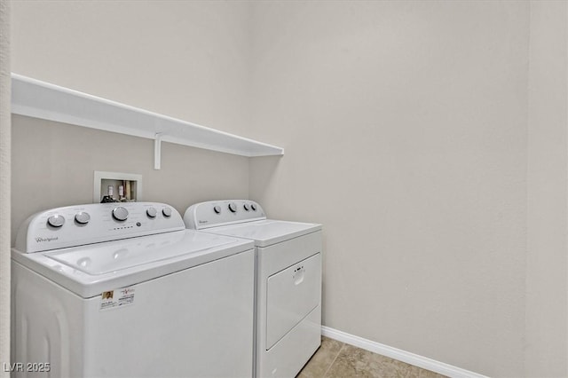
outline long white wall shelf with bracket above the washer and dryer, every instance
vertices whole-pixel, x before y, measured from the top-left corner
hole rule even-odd
[[[248,157],[284,154],[278,146],[13,73],[12,114],[154,139],[156,169],[161,141]]]

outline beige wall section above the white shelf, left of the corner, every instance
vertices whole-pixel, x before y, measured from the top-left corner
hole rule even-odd
[[[15,1],[12,72],[238,133],[249,17],[230,1]]]

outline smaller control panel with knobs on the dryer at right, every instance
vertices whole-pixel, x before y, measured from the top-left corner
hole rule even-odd
[[[200,202],[190,206],[184,214],[185,225],[193,230],[260,219],[266,219],[263,208],[250,200]]]

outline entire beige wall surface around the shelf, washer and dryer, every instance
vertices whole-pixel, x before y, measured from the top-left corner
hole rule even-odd
[[[141,173],[146,200],[180,211],[249,196],[324,224],[326,326],[482,374],[567,376],[567,12],[15,2],[12,71],[286,155],[164,144],[154,171],[150,140],[14,117],[13,228],[91,201],[92,170]]]

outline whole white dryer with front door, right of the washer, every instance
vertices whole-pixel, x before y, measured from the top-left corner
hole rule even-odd
[[[255,201],[208,201],[188,228],[254,240],[256,376],[294,377],[321,343],[321,224],[266,219]]]

